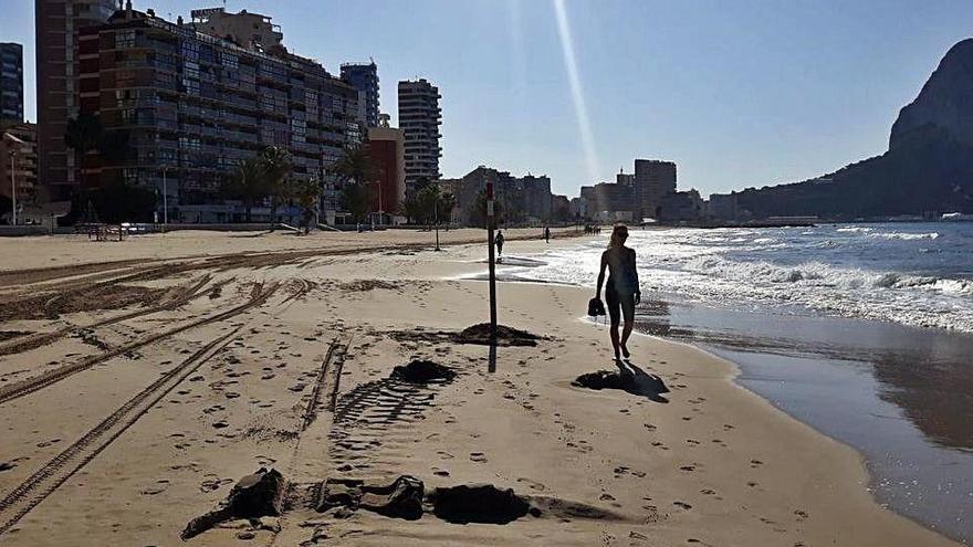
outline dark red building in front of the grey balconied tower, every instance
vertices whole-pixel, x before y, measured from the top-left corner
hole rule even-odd
[[[378,188],[374,194],[373,210],[383,223],[398,210],[406,198],[406,139],[402,130],[388,126],[388,115],[383,114],[378,127],[368,129],[368,156],[377,171]]]

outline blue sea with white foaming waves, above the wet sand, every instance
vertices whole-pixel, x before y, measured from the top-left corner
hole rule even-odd
[[[644,292],[973,333],[973,227],[632,230],[628,243]],[[522,275],[594,285],[603,250],[598,241],[550,253]]]

